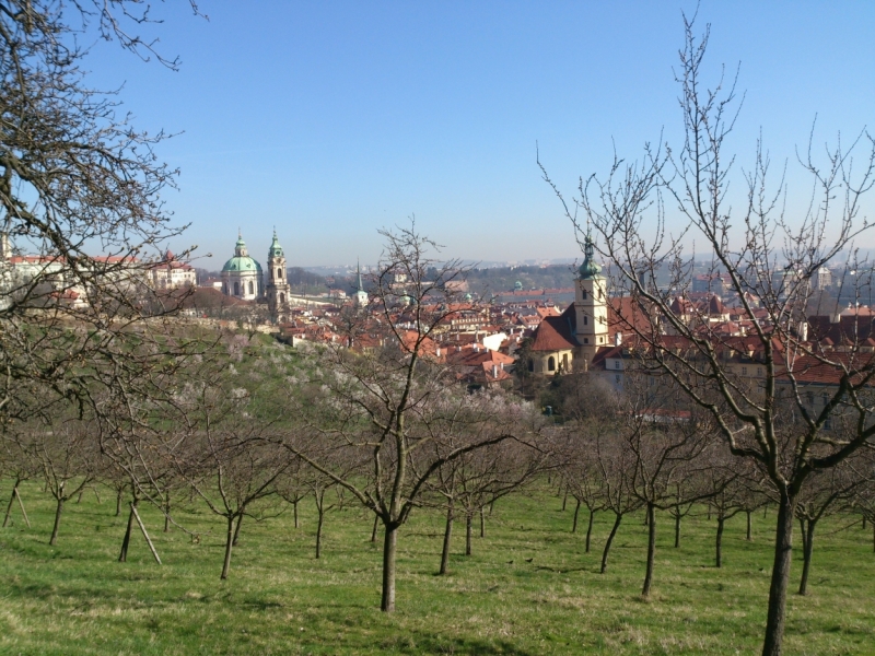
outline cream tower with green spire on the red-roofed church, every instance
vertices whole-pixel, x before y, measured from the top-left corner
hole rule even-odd
[[[581,347],[586,368],[595,358],[595,352],[600,347],[608,345],[607,284],[602,276],[602,267],[595,262],[594,251],[593,239],[587,232],[574,295],[574,337]]]

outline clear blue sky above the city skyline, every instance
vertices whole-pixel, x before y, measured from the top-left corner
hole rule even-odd
[[[290,266],[374,262],[377,229],[411,214],[451,257],[575,257],[536,142],[568,192],[607,169],[611,140],[628,157],[663,128],[677,142],[691,1],[199,3],[208,21],[156,8],[178,72],[113,45],[90,60],[136,126],[179,133],[159,154],[191,223],[172,246],[213,254],[198,266],[221,268],[238,227],[264,259],[273,226]],[[702,0],[705,23],[709,70],[740,62],[747,94],[731,147],[750,162],[761,129],[807,195],[794,148],[815,116],[819,142],[875,128],[875,1]]]

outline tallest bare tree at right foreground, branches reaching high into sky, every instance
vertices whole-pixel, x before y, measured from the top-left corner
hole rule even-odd
[[[807,151],[797,157],[813,181],[812,201],[797,216],[784,213],[784,180],[772,183],[761,142],[743,172],[746,198],[734,196],[730,183],[736,161],[728,139],[737,116],[735,80],[725,84],[721,77],[708,87],[708,30],[697,38],[692,21],[685,16],[677,75],[685,128],[680,148],[648,144],[640,163],[615,159],[606,177],[582,179],[578,204],[564,208],[579,234],[586,229],[578,220],[578,208],[600,236],[600,251],[617,286],[634,301],[626,307],[651,318],[642,326],[630,313],[621,316],[641,348],[649,350],[653,365],[712,414],[733,455],[755,460],[775,491],[774,560],[762,649],[765,656],[775,656],[783,644],[800,494],[812,473],[837,466],[875,435],[875,407],[866,394],[875,376],[875,355],[862,348],[859,332],[848,335],[837,349],[801,327],[813,294],[812,278],[867,229],[860,211],[875,181],[875,140],[863,132],[850,149],[828,147],[820,165],[812,134]],[[852,159],[856,148],[865,151],[862,162]],[[725,277],[740,307],[747,326],[744,348],[704,313],[690,317],[685,311],[693,274],[687,254],[693,241],[697,248],[704,244],[704,257],[713,262],[711,273]],[[756,361],[750,366],[761,372],[752,385],[736,367],[739,353],[751,352]],[[824,382],[829,382],[827,401],[814,407],[805,386]],[[789,406],[780,401],[782,396]],[[791,411],[801,422],[783,421]],[[836,414],[852,415],[855,433],[833,438],[829,420]]]

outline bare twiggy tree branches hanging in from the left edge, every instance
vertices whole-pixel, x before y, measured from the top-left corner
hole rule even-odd
[[[137,0],[0,0],[4,422],[48,423],[70,403],[91,419],[107,396],[153,397],[192,352],[144,316],[177,306],[149,284],[163,242],[184,229],[162,201],[176,176],[155,152],[166,134],[137,130],[117,91],[90,85],[79,45],[100,35],[175,68],[147,36],[155,22]]]

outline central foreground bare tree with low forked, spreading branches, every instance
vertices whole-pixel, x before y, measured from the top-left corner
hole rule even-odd
[[[466,395],[453,367],[439,354],[436,338],[459,312],[460,298],[447,284],[462,273],[459,263],[431,259],[435,244],[412,223],[382,234],[386,246],[372,277],[372,312],[361,312],[350,321],[345,343],[320,352],[318,368],[314,363],[312,384],[322,391],[313,395],[310,410],[320,434],[305,442],[295,436],[287,447],[380,518],[381,609],[392,612],[398,529],[420,503],[428,480],[465,454],[522,438],[532,422],[527,407],[502,397],[482,401],[481,396]],[[442,426],[458,407],[480,402],[503,403],[506,417],[516,421],[515,430],[486,431],[478,440],[423,460],[422,454],[442,435]],[[307,408],[301,410],[306,413]],[[352,454],[348,457],[366,466],[368,477],[343,477],[332,467],[332,452]]]

